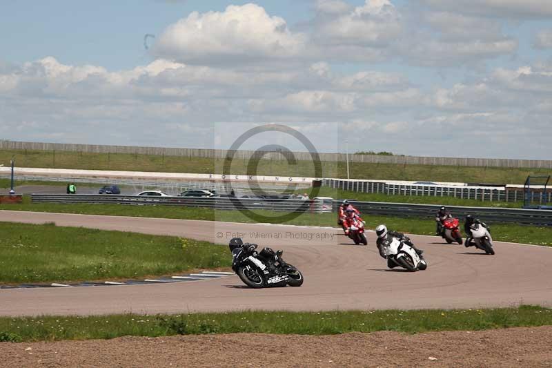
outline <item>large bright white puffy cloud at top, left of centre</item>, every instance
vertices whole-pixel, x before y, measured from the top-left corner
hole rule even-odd
[[[186,63],[226,64],[297,56],[306,37],[288,30],[261,6],[228,6],[224,12],[193,12],[158,37],[155,55]]]

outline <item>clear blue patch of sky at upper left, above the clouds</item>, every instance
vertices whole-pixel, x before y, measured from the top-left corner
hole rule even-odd
[[[101,65],[108,70],[132,68],[150,59],[143,46],[146,33],[159,35],[170,23],[193,11],[224,11],[230,3],[248,2],[8,1],[0,14],[0,31],[10,35],[0,39],[2,59],[23,63],[55,55],[67,64]],[[304,0],[258,3],[292,24],[308,19],[313,8]]]

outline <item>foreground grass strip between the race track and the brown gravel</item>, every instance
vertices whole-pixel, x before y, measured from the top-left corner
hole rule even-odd
[[[244,311],[180,316],[135,314],[90,317],[0,318],[0,341],[86,340],[119,336],[205,333],[294,333],[466,331],[552,325],[552,310],[535,306],[422,311]]]

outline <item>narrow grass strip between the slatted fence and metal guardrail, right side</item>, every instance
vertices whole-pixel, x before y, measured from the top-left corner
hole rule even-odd
[[[298,193],[299,194],[299,193]],[[489,202],[480,200],[464,200],[455,197],[431,197],[427,195],[386,195],[382,193],[360,193],[354,191],[343,191],[342,189],[320,188],[320,197],[332,197],[337,199],[348,199],[365,202],[393,202],[413,204],[436,204],[443,206],[466,206],[466,207],[500,207],[500,208],[521,208],[523,202]]]

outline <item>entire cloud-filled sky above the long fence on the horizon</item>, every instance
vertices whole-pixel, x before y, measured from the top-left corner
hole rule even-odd
[[[549,0],[9,1],[0,139],[227,148],[279,123],[319,151],[551,159],[551,19]]]

